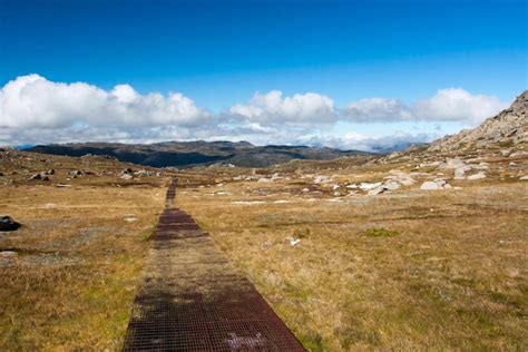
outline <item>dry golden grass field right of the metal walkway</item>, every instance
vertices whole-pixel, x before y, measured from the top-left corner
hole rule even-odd
[[[341,199],[307,186],[189,187],[177,203],[309,350],[528,349],[526,184]]]

